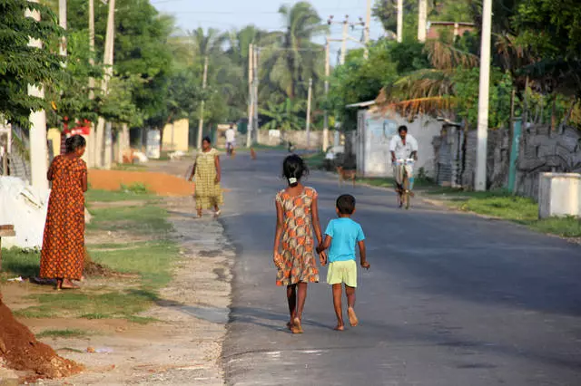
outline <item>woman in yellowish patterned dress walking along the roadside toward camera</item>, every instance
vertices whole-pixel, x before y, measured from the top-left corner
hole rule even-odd
[[[222,169],[220,167],[220,154],[212,148],[212,140],[205,137],[202,140],[202,151],[198,151],[193,164],[192,174],[188,180],[195,176],[196,188],[193,197],[196,199],[198,217],[202,217],[203,209],[214,209],[214,217],[220,216],[222,205]]]

